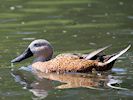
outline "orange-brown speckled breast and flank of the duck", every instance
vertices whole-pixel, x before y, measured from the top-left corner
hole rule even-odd
[[[98,61],[85,60],[77,55],[60,54],[56,58],[46,62],[33,63],[33,68],[41,72],[89,72],[96,68]]]

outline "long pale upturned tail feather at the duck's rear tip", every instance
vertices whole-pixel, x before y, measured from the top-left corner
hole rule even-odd
[[[115,61],[118,57],[120,57],[122,54],[124,54],[125,52],[127,52],[127,50],[129,50],[130,47],[131,47],[131,45],[129,45],[128,47],[126,47],[125,49],[123,49],[122,51],[120,51],[115,56],[111,57],[106,62],[99,62],[98,63],[98,66],[106,66],[107,64],[110,64],[111,62]]]

